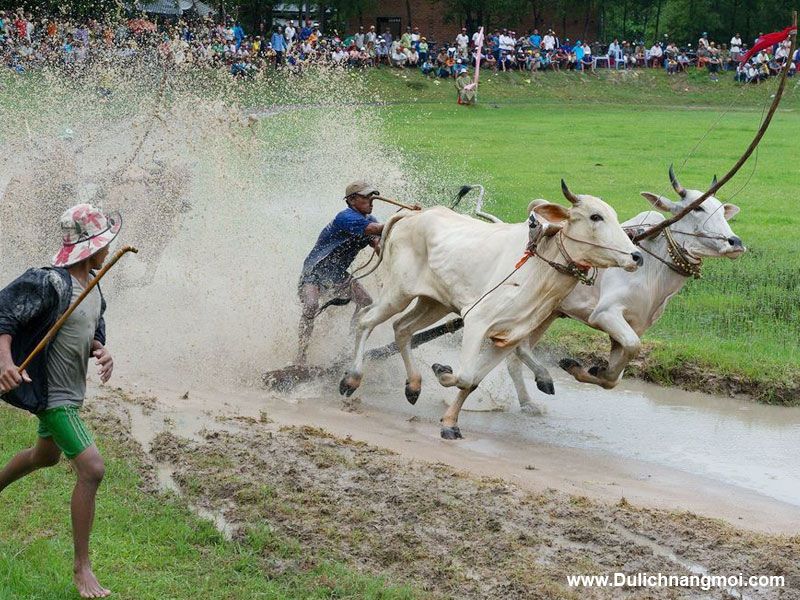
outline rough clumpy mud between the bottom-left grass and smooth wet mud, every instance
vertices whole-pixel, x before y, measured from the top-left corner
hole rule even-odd
[[[624,498],[537,491],[435,453],[424,460],[293,423],[280,410],[192,412],[186,403],[121,390],[92,401],[101,420],[121,424],[114,435],[142,446],[151,480],[162,488],[169,480],[230,537],[263,540],[273,574],[336,557],[433,598],[800,597],[797,535],[744,531]],[[357,403],[336,410],[345,420],[363,418]],[[615,572],[784,575],[786,585],[740,596],[566,582],[567,574]]]

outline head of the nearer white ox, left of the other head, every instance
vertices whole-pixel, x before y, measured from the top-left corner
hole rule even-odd
[[[586,194],[573,194],[564,180],[561,191],[572,206],[565,209],[557,204],[538,204],[536,214],[550,222],[564,234],[564,246],[580,265],[608,268],[622,267],[635,271],[642,265],[642,255],[623,231],[617,213],[600,198]]]

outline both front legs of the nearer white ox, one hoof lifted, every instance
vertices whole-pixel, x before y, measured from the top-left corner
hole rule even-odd
[[[464,330],[464,340],[459,357],[458,374],[448,366],[435,364],[433,372],[444,387],[458,387],[456,401],[451,404],[442,416],[442,437],[446,440],[461,439],[458,427],[458,415],[469,395],[475,391],[483,378],[506,358],[513,348],[498,348],[486,338],[483,330]]]

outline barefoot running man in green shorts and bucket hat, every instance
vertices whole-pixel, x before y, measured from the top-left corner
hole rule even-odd
[[[0,393],[39,419],[36,445],[18,453],[0,471],[0,491],[37,469],[69,459],[77,483],[72,492],[73,575],[82,598],[111,594],[97,581],[89,561],[89,534],[95,495],[105,466],[92,434],[80,418],[90,357],[107,382],[114,360],[105,347],[105,301],[92,289],[58,334],[22,374],[20,363],[86,288],[108,256],[121,227],[89,204],[78,204],[61,216],[63,245],[53,268],[29,269],[0,291]]]

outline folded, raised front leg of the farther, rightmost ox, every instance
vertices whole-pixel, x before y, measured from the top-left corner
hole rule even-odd
[[[594,366],[586,370],[573,359],[564,359],[559,364],[578,381],[610,390],[617,386],[625,367],[639,354],[642,342],[619,311],[596,312],[589,318],[589,325],[605,331],[611,338],[608,367]]]

